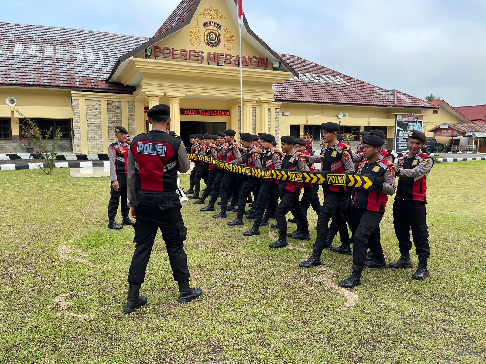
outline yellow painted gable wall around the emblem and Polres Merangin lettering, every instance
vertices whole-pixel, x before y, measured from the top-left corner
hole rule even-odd
[[[208,19],[204,18],[200,13],[203,13],[204,10],[207,7],[214,6],[223,17],[225,17],[222,20],[216,20],[216,19]],[[191,44],[191,30],[198,25],[199,21],[199,34],[200,34],[200,43],[195,46],[194,44]],[[221,30],[218,32],[220,33],[220,39],[221,42],[219,46],[217,47],[209,47],[206,45],[204,42],[204,32],[208,28],[203,27],[203,23],[206,21],[216,21],[221,25]],[[233,35],[233,47],[228,50],[225,47],[225,29],[227,26],[227,30],[231,35]],[[197,29],[196,29],[197,30]],[[196,43],[195,43],[196,44]],[[170,35],[169,37],[163,39],[162,41],[158,42],[156,46],[163,48],[163,47],[169,47],[169,48],[174,48],[175,50],[179,49],[185,49],[185,50],[196,50],[196,51],[203,51],[204,52],[204,57],[205,57],[205,64],[208,64],[208,52],[216,52],[216,53],[229,53],[232,55],[239,55],[240,54],[240,47],[239,47],[239,34],[238,34],[238,27],[237,24],[233,22],[233,19],[229,13],[229,10],[226,6],[226,2],[224,0],[202,0],[194,14],[194,16],[191,19],[191,22],[189,25],[186,27],[182,28],[178,32]],[[153,48],[153,47],[152,47]],[[228,47],[229,48],[229,47]],[[178,53],[178,52],[177,52]],[[261,57],[261,54],[258,53],[252,46],[250,46],[244,39],[242,41],[242,53],[243,56],[255,56],[255,57]],[[140,52],[135,56],[136,58],[145,58],[145,52]],[[157,56],[157,59],[162,59],[159,58],[161,55]],[[178,61],[178,60],[175,60]],[[187,60],[181,60],[180,62],[190,62]],[[197,63],[197,62],[194,62]],[[237,65],[226,65],[226,66],[233,66],[233,67],[238,67]],[[225,66],[225,67],[226,67]]]

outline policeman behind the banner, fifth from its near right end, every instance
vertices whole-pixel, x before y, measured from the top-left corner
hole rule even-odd
[[[254,151],[253,135],[243,132],[240,135],[243,148],[246,149],[244,164],[250,167],[261,168],[261,154]],[[243,214],[246,208],[246,200],[250,196],[251,191],[260,184],[260,180],[256,177],[249,177],[240,190],[240,196],[238,198],[238,208],[236,209],[236,218],[228,222],[229,226],[243,225]]]

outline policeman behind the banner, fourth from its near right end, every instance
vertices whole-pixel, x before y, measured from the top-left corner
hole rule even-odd
[[[261,160],[261,165],[263,168],[271,168],[271,169],[281,169],[280,167],[280,160],[281,155],[280,152],[273,148],[273,142],[275,141],[275,136],[272,134],[261,133],[260,140],[264,150],[266,150],[263,158]],[[253,227],[248,230],[247,232],[243,232],[244,236],[252,236],[252,235],[260,235],[260,223],[262,223],[263,213],[265,208],[267,208],[267,213],[265,214],[266,217],[266,225],[268,225],[268,218],[270,217],[271,212],[275,212],[277,209],[278,200],[275,198],[275,193],[278,189],[278,184],[271,180],[271,179],[264,179],[260,185],[260,192],[258,193],[258,198],[255,201],[255,214],[254,214],[254,221]],[[250,217],[252,215],[248,215]]]

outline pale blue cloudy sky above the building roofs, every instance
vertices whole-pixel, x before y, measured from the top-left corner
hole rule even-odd
[[[152,36],[178,3],[0,0],[0,21]],[[279,53],[418,98],[486,103],[485,0],[243,0],[243,9]]]

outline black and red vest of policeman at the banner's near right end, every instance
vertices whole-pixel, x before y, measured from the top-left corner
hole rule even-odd
[[[388,163],[385,160],[380,160],[373,163],[366,163],[360,165],[358,173],[373,176],[375,178],[383,178],[388,169]],[[356,189],[354,193],[354,207],[376,211],[385,212],[388,195],[380,191],[366,191]]]

